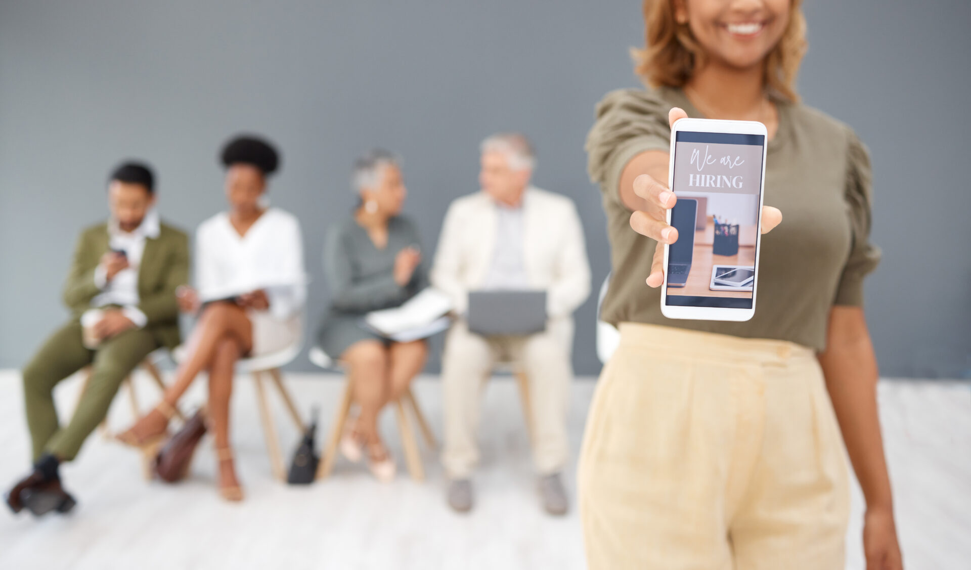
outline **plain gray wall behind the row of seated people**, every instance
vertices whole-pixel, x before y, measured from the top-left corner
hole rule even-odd
[[[804,99],[873,153],[882,372],[967,374],[971,5],[807,4]],[[110,167],[149,159],[163,216],[191,230],[223,208],[216,153],[243,130],[284,151],[270,192],[303,223],[311,320],[323,232],[348,215],[349,165],[374,145],[405,156],[430,253],[449,201],[478,188],[479,141],[527,133],[535,184],[576,201],[599,283],[608,245],[584,138],[596,101],[638,84],[627,50],[642,44],[636,1],[0,1],[0,367],[65,318],[60,285],[78,230],[105,216]],[[579,374],[600,367],[594,303],[577,315]]]

